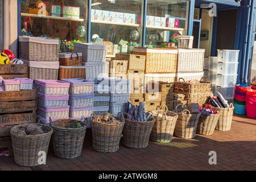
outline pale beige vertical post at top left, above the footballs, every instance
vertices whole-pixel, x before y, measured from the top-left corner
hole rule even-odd
[[[9,49],[9,0],[3,1],[3,49]]]

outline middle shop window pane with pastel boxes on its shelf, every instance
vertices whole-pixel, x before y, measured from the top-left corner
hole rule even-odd
[[[92,42],[104,40],[109,55],[141,46],[142,0],[93,0]]]

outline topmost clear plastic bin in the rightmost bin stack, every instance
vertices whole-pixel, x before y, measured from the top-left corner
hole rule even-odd
[[[234,63],[239,60],[239,50],[218,49],[218,61],[222,63]]]

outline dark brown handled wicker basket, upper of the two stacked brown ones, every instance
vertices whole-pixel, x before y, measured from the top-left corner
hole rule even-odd
[[[65,67],[81,67],[82,53],[59,53],[59,62]]]

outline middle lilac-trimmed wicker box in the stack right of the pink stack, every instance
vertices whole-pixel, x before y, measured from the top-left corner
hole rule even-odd
[[[68,104],[72,107],[93,106],[94,94],[70,95]]]

